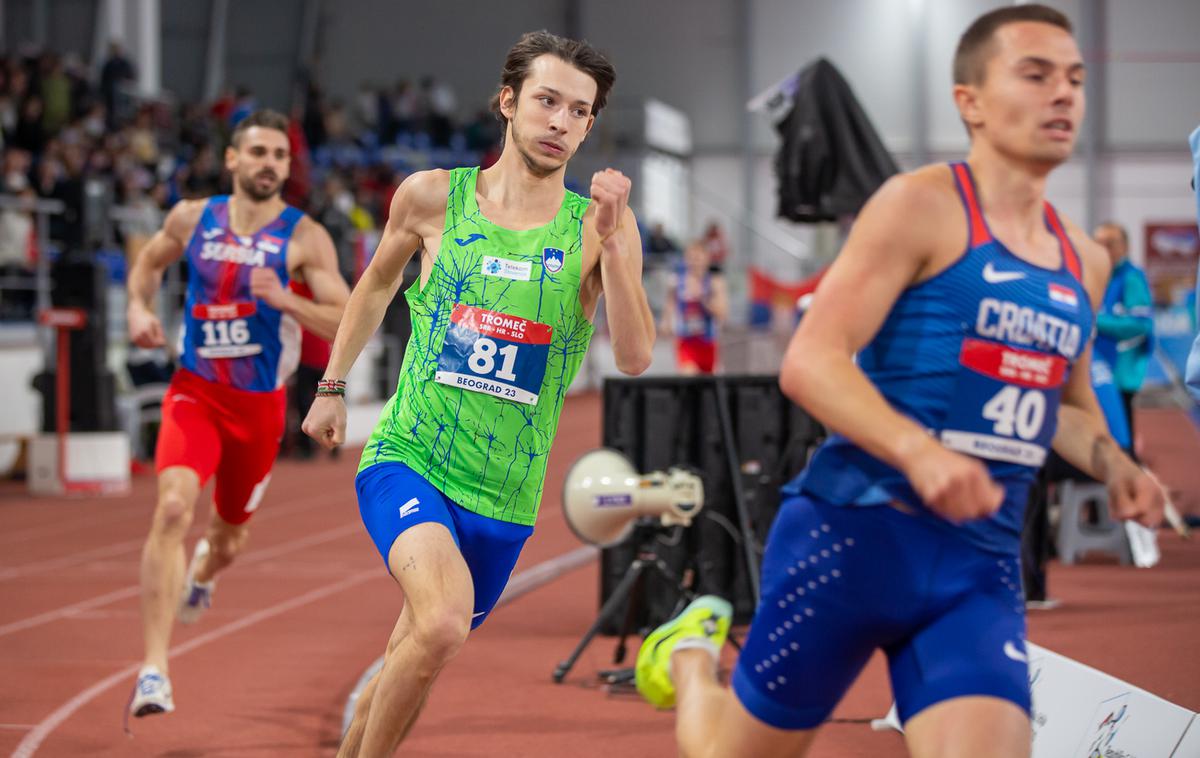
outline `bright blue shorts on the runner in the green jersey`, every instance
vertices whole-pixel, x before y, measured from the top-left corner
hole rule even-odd
[[[533,527],[468,511],[403,463],[376,463],[362,469],[354,488],[362,524],[385,566],[392,543],[406,529],[434,522],[450,530],[475,585],[470,628],[482,624],[500,598]]]

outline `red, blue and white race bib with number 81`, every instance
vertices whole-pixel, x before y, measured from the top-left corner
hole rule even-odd
[[[458,303],[450,313],[433,380],[533,405],[546,377],[552,335],[547,324]]]

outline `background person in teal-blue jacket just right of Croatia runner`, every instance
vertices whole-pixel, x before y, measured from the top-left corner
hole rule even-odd
[[[1109,251],[1112,261],[1112,276],[1096,317],[1093,389],[1112,437],[1122,447],[1133,450],[1133,398],[1146,378],[1146,366],[1154,347],[1150,282],[1146,273],[1129,260],[1129,234],[1124,227],[1105,222],[1097,227],[1092,236]],[[1109,384],[1112,386],[1109,387]]]

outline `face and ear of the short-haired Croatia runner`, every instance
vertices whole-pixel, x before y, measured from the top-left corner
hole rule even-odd
[[[955,96],[972,139],[1022,161],[1057,166],[1084,120],[1084,60],[1058,26],[1018,22],[996,30],[980,84]]]

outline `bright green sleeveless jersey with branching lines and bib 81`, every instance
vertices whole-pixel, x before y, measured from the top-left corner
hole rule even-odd
[[[450,172],[442,246],[404,296],[413,333],[396,393],[359,470],[400,461],[464,509],[532,525],[563,398],[592,339],[580,306],[583,212],[514,231],[475,199],[478,168]]]

